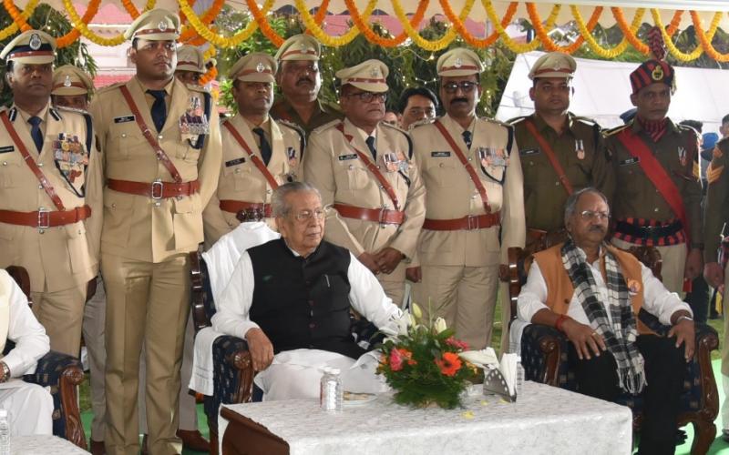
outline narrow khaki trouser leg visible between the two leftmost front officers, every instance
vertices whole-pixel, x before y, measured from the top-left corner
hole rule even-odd
[[[104,280],[97,278],[97,292],[84,308],[84,342],[88,353],[88,372],[91,376],[91,440],[104,440],[106,430],[107,394],[105,393],[105,370],[107,366],[107,344],[104,340],[104,325],[107,319],[107,293]]]

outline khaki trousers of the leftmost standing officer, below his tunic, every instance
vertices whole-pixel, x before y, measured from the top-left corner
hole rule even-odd
[[[78,357],[87,285],[56,292],[31,292],[33,313],[46,329],[51,349]]]

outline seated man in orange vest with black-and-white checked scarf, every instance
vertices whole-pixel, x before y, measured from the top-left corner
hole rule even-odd
[[[519,319],[570,339],[578,392],[611,401],[642,392],[639,453],[673,453],[682,360],[693,357],[693,315],[638,259],[604,243],[609,218],[607,199],[594,188],[567,199],[570,238],[534,255]],[[668,337],[642,322],[650,315],[673,326]]]

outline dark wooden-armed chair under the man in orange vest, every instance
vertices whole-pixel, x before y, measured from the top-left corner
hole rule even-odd
[[[661,278],[662,259],[656,248],[633,247],[629,250],[645,267]],[[517,315],[519,292],[526,283],[533,256],[521,248],[508,248],[508,295],[512,319]],[[657,318],[648,315],[642,321],[656,333],[665,336],[669,327],[662,326]],[[711,351],[719,347],[716,330],[705,324],[696,323],[696,351],[693,360],[686,364],[681,396],[679,426],[693,424],[694,437],[692,454],[703,454],[709,450],[716,435],[714,419],[719,413],[719,395],[711,364]],[[569,369],[567,353],[570,341],[553,327],[530,324],[521,336],[521,359],[526,379],[534,380],[561,389],[575,389],[574,375]],[[642,424],[642,397],[621,395],[620,404],[631,407],[633,428],[640,430]]]

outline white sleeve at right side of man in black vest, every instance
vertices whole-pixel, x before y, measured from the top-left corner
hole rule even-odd
[[[349,258],[347,279],[352,307],[377,329],[396,329],[395,319],[400,318],[402,311],[385,295],[385,290],[370,269],[364,267],[351,252]]]

